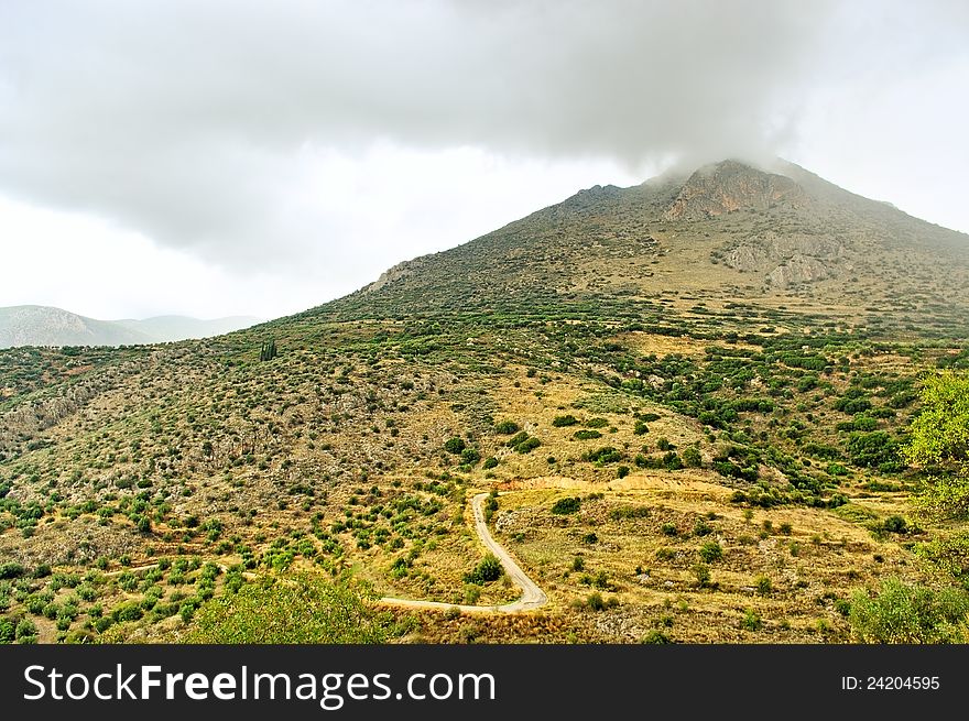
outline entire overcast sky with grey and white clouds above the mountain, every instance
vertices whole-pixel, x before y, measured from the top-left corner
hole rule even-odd
[[[0,0],[0,306],[277,317],[782,155],[969,231],[969,3]]]

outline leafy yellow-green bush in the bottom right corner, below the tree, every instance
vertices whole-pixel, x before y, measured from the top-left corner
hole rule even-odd
[[[848,618],[862,643],[965,643],[967,613],[969,593],[962,590],[936,591],[889,578],[877,596],[857,591]]]

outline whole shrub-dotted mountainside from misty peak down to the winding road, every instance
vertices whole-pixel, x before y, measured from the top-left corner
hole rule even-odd
[[[966,581],[899,449],[969,368],[967,240],[725,161],[227,336],[2,351],[2,612],[179,641],[311,571],[400,642],[856,640],[858,593]]]

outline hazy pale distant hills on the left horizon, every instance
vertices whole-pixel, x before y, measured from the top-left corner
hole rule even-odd
[[[260,318],[199,320],[159,316],[144,320],[97,320],[61,308],[20,305],[0,308],[0,348],[21,346],[134,346],[208,338],[248,328]]]

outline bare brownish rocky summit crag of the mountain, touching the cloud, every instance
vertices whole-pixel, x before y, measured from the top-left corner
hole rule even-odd
[[[764,210],[773,205],[801,207],[807,194],[786,175],[737,160],[694,171],[665,212],[667,220],[700,220],[740,209]]]

